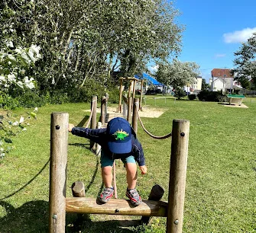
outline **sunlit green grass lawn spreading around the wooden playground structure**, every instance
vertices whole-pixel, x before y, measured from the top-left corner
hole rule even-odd
[[[154,101],[151,97],[147,97],[146,103],[147,107],[165,109],[159,118],[142,118],[154,135],[170,132],[174,119],[190,120],[183,231],[256,232],[256,99],[243,101],[247,109],[201,101],[167,99],[165,103],[164,99]],[[84,111],[89,107],[41,107],[36,123],[14,138],[15,150],[0,164],[0,232],[47,232],[50,113],[67,112],[70,123],[79,124],[89,116]],[[171,139],[151,139],[140,125],[138,138],[148,168],[148,174],[138,176],[138,190],[147,199],[151,187],[160,184],[166,191],[163,199],[167,200]],[[72,196],[70,187],[76,180],[84,182],[86,196],[96,197],[102,189],[99,161],[88,148],[88,140],[69,135],[66,196]],[[117,174],[118,198],[125,198],[125,170],[121,162],[117,163]],[[91,215],[90,219],[78,224],[76,215],[67,214],[66,231],[165,232],[166,228],[166,219],[157,217],[146,228],[122,227],[112,215]]]

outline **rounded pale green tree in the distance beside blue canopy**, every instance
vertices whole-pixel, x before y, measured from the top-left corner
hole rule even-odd
[[[185,87],[199,75],[199,65],[195,62],[180,62],[173,59],[172,63],[161,62],[158,65],[157,80],[174,89]]]

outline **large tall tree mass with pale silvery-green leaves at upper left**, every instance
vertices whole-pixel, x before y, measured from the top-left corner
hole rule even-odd
[[[41,47],[41,91],[87,81],[107,86],[114,71],[134,75],[149,59],[180,51],[179,12],[165,0],[3,0],[0,8],[0,42]]]

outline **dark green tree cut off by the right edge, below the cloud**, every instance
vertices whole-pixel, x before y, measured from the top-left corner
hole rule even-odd
[[[254,83],[256,81],[256,33],[246,43],[242,43],[234,54],[235,68],[232,69],[232,74],[243,88],[249,88],[250,80]]]

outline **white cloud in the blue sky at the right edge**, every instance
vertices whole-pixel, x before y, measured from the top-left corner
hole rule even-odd
[[[256,27],[247,27],[243,30],[235,30],[232,33],[223,34],[223,37],[225,43],[242,43],[246,42],[254,32],[256,32]]]

